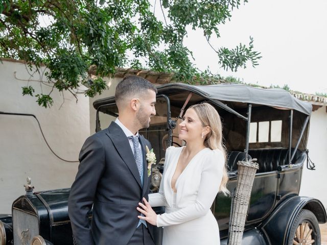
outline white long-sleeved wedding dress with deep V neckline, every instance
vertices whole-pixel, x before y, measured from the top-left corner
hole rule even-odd
[[[175,193],[171,180],[183,147],[167,149],[159,192],[149,195],[152,207],[166,207],[157,215],[157,227],[164,227],[162,245],[219,245],[218,223],[210,207],[222,180],[223,153],[209,148],[198,152],[178,177]]]

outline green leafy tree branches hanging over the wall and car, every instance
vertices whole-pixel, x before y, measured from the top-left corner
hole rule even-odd
[[[35,94],[32,86],[25,86],[22,93],[36,96],[44,107],[53,104],[54,89],[76,96],[80,84],[87,84],[86,95],[101,93],[106,89],[101,77],[112,76],[117,67],[173,72],[175,80],[192,83],[209,72],[193,64],[192,52],[183,44],[186,29],[201,29],[213,47],[210,38],[220,37],[219,25],[246,2],[0,0],[0,57],[24,60],[31,71],[36,67],[51,92]],[[155,5],[160,16],[154,14]],[[45,26],[42,19],[50,23]],[[247,63],[255,66],[261,58],[251,38],[248,45],[213,47],[213,52],[219,65],[231,71]]]

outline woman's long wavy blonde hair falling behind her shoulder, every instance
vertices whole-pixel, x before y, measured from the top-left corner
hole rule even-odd
[[[228,195],[229,190],[226,188],[226,184],[228,181],[226,167],[226,150],[222,139],[222,124],[220,116],[217,110],[208,103],[196,104],[190,106],[189,109],[190,108],[195,110],[196,114],[200,118],[202,126],[209,126],[211,129],[210,132],[205,136],[204,146],[210,148],[211,150],[219,149],[224,155],[225,162],[223,168],[223,178],[219,190],[222,191],[225,195]]]

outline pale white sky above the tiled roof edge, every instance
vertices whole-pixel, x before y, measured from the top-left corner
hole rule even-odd
[[[220,27],[221,38],[212,45],[233,48],[254,39],[262,59],[255,68],[249,63],[237,72],[224,71],[199,30],[188,32],[186,44],[195,64],[224,77],[262,86],[287,84],[303,93],[327,93],[327,1],[249,0],[232,11],[230,21]]]

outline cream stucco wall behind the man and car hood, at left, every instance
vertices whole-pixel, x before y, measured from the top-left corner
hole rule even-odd
[[[65,160],[77,161],[90,134],[88,97],[79,94],[76,103],[72,94],[64,92],[61,106],[63,95],[55,89],[51,94],[54,105],[45,109],[35,97],[22,96],[21,87],[27,86],[29,78],[24,64],[0,62],[0,111],[34,114],[53,151]],[[37,81],[29,85],[40,93],[39,75],[31,79]],[[50,89],[42,85],[43,93]],[[36,191],[70,187],[77,167],[78,162],[62,161],[49,150],[33,117],[0,114],[0,213],[11,213],[13,200],[25,193],[27,176]]]

